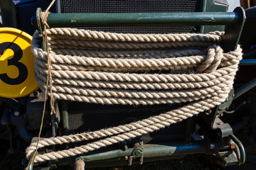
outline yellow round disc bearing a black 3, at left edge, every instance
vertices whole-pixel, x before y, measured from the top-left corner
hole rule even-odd
[[[0,96],[19,98],[38,89],[31,35],[16,28],[0,28]]]

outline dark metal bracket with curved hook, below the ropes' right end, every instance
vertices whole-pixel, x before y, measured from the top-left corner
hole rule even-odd
[[[233,92],[230,93],[232,96]],[[226,101],[227,103],[228,100]],[[228,164],[244,164],[245,162],[245,149],[242,143],[233,135],[233,129],[228,123],[223,123],[220,118],[217,118],[219,111],[223,111],[226,108],[227,103],[223,103],[223,106],[216,106],[211,113],[204,113],[200,115],[201,124],[205,126],[207,135],[205,138],[209,138],[211,142],[216,142],[214,153],[216,155],[217,164],[221,166],[227,166]],[[200,120],[200,119],[199,119]],[[235,142],[235,148],[230,147],[230,140]]]

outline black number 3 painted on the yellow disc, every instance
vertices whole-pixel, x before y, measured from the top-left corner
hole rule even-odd
[[[4,73],[0,74],[0,79],[6,84],[21,84],[28,77],[28,69],[23,63],[18,62],[19,60],[21,60],[21,57],[23,55],[21,47],[16,45],[16,43],[14,42],[3,42],[0,44],[0,55],[3,55],[4,50],[6,49],[11,49],[14,51],[14,57],[8,60],[8,66],[14,65],[18,68],[18,77],[15,79],[11,79],[6,73]]]

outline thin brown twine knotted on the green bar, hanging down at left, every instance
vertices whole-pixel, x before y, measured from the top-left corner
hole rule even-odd
[[[47,24],[47,17],[48,17],[48,13],[49,13],[49,10],[50,10],[50,7],[53,6],[55,0],[53,0],[50,5],[48,6],[48,8],[46,9],[45,12],[42,12],[41,13],[41,21],[42,21],[42,24],[43,24],[43,33],[44,33],[44,36],[45,36],[45,40],[46,40],[46,50],[47,50],[47,57],[48,57],[48,61],[47,61],[47,67],[48,67],[48,75],[47,75],[47,80],[46,80],[46,91],[45,91],[45,98],[44,98],[44,103],[43,103],[43,115],[42,115],[42,119],[41,119],[41,125],[40,125],[40,130],[39,130],[39,133],[38,133],[38,140],[36,142],[36,149],[35,149],[35,152],[33,153],[33,156],[31,157],[31,160],[29,161],[28,163],[28,166],[26,166],[26,169],[25,170],[28,170],[29,167],[31,166],[32,162],[33,162],[33,159],[35,159],[36,157],[36,152],[38,150],[38,143],[39,143],[39,140],[40,140],[40,137],[41,137],[41,132],[42,132],[42,128],[43,128],[43,118],[44,118],[44,115],[46,113],[46,100],[47,100],[47,91],[48,91],[48,83],[50,82],[50,115],[52,115],[53,113],[55,113],[55,108],[54,108],[54,98],[53,98],[53,91],[52,91],[52,88],[53,88],[53,79],[51,77],[51,73],[50,73],[50,70],[51,70],[51,61],[50,61],[50,57],[49,57],[49,45],[48,45],[48,38],[47,38],[47,33],[46,33],[46,28],[50,28]]]

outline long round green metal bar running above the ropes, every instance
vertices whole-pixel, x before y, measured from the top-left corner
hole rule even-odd
[[[49,13],[50,27],[227,25],[236,12],[193,13]]]

